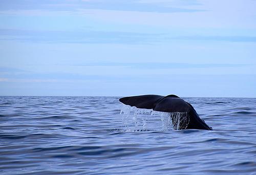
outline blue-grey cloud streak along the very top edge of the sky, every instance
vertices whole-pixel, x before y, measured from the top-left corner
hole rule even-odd
[[[193,3],[194,2],[194,3]],[[0,10],[68,10],[76,9],[101,9],[101,10],[121,10],[121,11],[140,11],[140,12],[158,12],[158,13],[176,13],[176,12],[196,12],[201,9],[183,8],[184,5],[196,5],[195,1],[160,1],[159,3],[150,1],[1,1]]]

